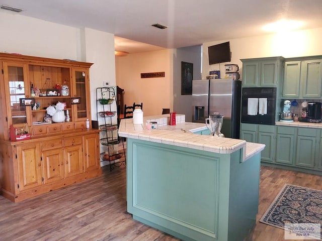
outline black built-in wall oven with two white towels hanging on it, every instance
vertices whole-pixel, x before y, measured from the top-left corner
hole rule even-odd
[[[250,115],[249,98],[267,98],[267,114]],[[241,92],[241,123],[275,125],[276,87],[246,87]]]

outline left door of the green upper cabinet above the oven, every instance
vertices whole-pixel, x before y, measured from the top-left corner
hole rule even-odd
[[[259,62],[243,62],[243,86],[258,86]]]

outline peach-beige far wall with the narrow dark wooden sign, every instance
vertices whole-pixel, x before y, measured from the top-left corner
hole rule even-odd
[[[116,57],[116,84],[124,89],[124,104],[142,102],[144,116],[172,108],[171,53],[172,50],[160,50]],[[150,72],[165,72],[165,77],[141,78],[141,73]]]

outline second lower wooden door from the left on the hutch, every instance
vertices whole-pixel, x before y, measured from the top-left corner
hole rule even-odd
[[[42,153],[44,183],[55,182],[64,178],[64,160],[62,149]]]

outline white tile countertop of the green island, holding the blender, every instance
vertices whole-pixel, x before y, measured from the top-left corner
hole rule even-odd
[[[144,116],[142,125],[133,124],[133,119],[121,119],[119,136],[168,145],[187,147],[214,153],[229,154],[240,148],[246,149],[243,161],[261,152],[265,145],[245,140],[197,135],[193,132],[207,130],[205,124],[185,122],[184,114],[177,114],[176,126],[169,126],[170,114]],[[147,130],[145,123],[157,122],[158,128]]]

